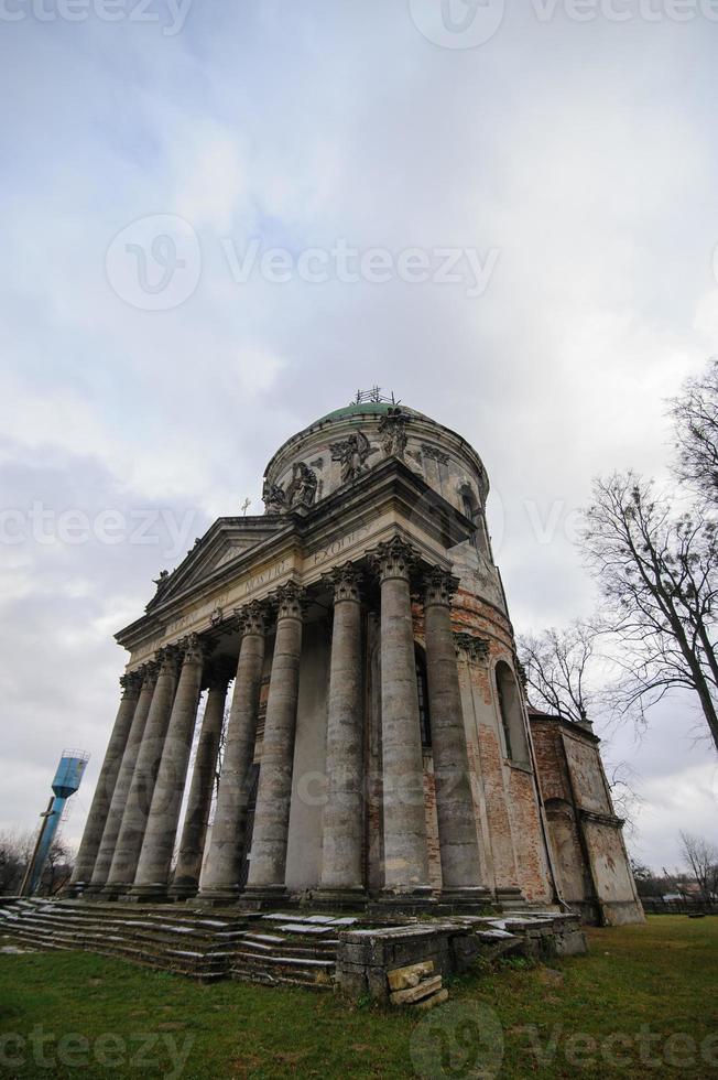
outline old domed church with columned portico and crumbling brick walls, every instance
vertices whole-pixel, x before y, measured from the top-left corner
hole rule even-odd
[[[597,741],[550,719],[544,817],[488,493],[460,435],[379,392],[287,440],[265,514],[216,521],[117,636],[124,694],[75,892],[452,910],[565,895],[640,918]]]

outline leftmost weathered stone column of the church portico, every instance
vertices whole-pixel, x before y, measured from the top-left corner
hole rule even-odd
[[[122,676],[120,679],[122,687],[122,699],[115,720],[115,727],[110,735],[110,741],[105,753],[105,760],[95,788],[93,804],[87,816],[83,842],[79,845],[75,870],[69,882],[68,893],[77,895],[89,885],[97,853],[99,852],[100,841],[107,824],[107,816],[110,811],[115,785],[122,765],[122,755],[127,747],[127,742],[132,727],[132,717],[140,699],[140,688],[142,677],[133,671]]]

